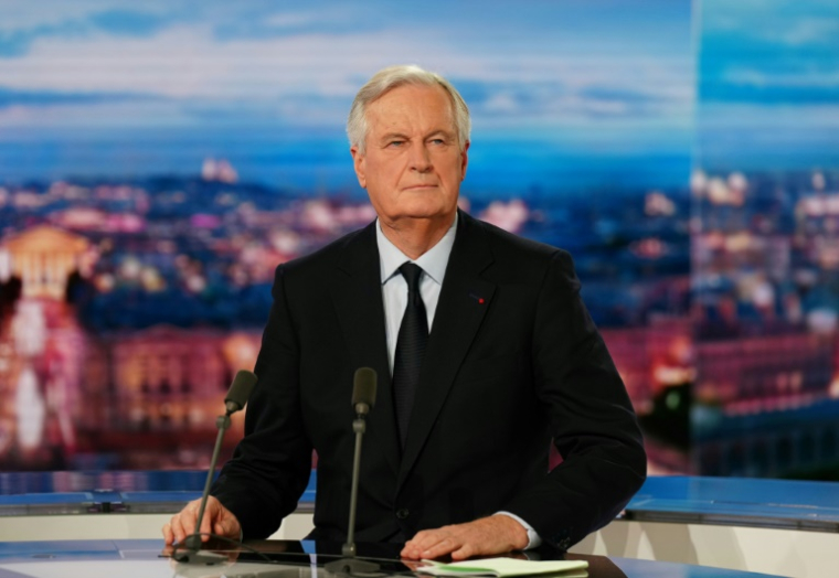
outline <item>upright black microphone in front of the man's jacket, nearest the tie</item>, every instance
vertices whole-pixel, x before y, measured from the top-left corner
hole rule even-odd
[[[340,560],[330,561],[325,568],[334,574],[374,572],[379,565],[355,558],[355,507],[359,501],[359,469],[361,465],[361,440],[367,430],[367,415],[375,405],[378,375],[375,370],[359,367],[352,381],[352,407],[355,419],[352,430],[355,432],[355,453],[352,458],[352,488],[350,490],[350,522],[347,527],[347,544],[341,546]]]

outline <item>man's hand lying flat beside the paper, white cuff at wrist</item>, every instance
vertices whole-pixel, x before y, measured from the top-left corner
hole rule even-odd
[[[450,554],[453,560],[464,560],[527,546],[528,532],[524,527],[510,516],[496,514],[466,524],[418,532],[405,544],[401,556],[416,560]]]

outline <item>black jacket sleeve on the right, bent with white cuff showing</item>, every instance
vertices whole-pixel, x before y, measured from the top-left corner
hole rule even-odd
[[[571,256],[555,251],[537,299],[531,358],[563,462],[508,510],[567,548],[605,526],[646,477],[640,430],[606,346],[580,298]]]

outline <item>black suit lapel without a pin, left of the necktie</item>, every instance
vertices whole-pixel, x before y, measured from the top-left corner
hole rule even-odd
[[[381,448],[396,474],[400,470],[399,434],[393,414],[374,227],[375,223],[347,240],[337,264],[331,293],[350,360],[355,367],[372,367],[378,374],[375,407],[368,416],[367,437]]]

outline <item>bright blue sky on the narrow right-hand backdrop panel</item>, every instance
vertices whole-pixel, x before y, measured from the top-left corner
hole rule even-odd
[[[699,165],[839,168],[839,2],[703,0]]]

